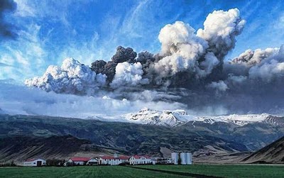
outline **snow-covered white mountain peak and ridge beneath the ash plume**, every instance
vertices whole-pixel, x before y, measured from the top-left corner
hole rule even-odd
[[[238,126],[245,126],[249,123],[268,123],[273,126],[284,126],[284,118],[273,116],[268,113],[262,114],[232,114],[228,116],[191,116],[184,110],[156,111],[144,108],[137,113],[128,113],[124,116],[124,121],[133,123],[150,124],[156,126],[180,126],[193,121],[213,124],[216,122],[231,123]]]

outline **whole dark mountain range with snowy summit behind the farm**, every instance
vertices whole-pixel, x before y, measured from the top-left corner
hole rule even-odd
[[[121,116],[120,122],[111,119],[2,114],[0,161],[114,152],[166,156],[171,150],[194,152],[198,160],[259,150],[284,135],[284,118],[268,114],[192,117],[180,110],[143,109]]]

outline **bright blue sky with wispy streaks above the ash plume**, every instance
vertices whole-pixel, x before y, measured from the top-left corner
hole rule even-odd
[[[277,48],[284,41],[283,1],[25,1],[6,13],[18,38],[0,43],[0,79],[40,76],[49,65],[74,57],[90,65],[109,60],[118,45],[136,52],[159,52],[158,33],[168,23],[184,21],[203,28],[208,13],[238,8],[246,26],[236,48]]]

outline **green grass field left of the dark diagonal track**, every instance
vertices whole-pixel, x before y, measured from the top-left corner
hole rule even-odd
[[[53,178],[53,177],[106,177],[106,178],[128,178],[128,177],[163,177],[163,178],[186,178],[175,174],[166,174],[130,167],[120,166],[84,166],[84,167],[0,167],[0,177],[9,178]]]

